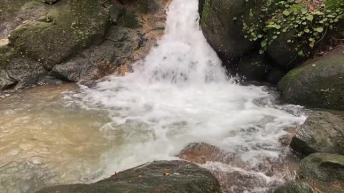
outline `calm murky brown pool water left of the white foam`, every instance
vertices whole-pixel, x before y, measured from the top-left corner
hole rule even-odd
[[[76,85],[42,86],[0,98],[0,192],[88,182],[102,172],[112,144],[100,131],[107,115],[61,100]]]

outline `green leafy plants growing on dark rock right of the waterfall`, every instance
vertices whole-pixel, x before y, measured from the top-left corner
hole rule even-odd
[[[327,0],[316,8],[308,3],[282,0],[267,3],[261,11],[259,22],[249,23],[250,16],[242,28],[246,39],[260,42],[261,54],[281,35],[289,37],[286,43],[295,45],[298,55],[308,54],[305,48],[313,48],[344,19],[342,0]]]

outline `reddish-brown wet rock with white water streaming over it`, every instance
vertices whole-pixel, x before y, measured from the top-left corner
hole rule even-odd
[[[211,170],[222,190],[228,192],[270,191],[281,184],[274,180],[275,176],[278,176],[276,179],[293,179],[298,168],[292,155],[286,156],[283,161],[266,158],[258,165],[251,165],[235,153],[207,143],[191,143],[177,156]]]

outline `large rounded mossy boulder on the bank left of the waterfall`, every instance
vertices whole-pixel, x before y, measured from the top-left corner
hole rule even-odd
[[[27,22],[12,31],[10,46],[50,69],[82,48],[100,44],[109,23],[109,13],[98,1],[60,1],[45,22]]]

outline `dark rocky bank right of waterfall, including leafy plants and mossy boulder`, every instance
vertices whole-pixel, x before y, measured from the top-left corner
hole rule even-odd
[[[200,5],[203,33],[228,69],[248,80],[278,83],[286,102],[343,109],[343,49],[332,49],[342,44],[342,1],[206,0]]]

